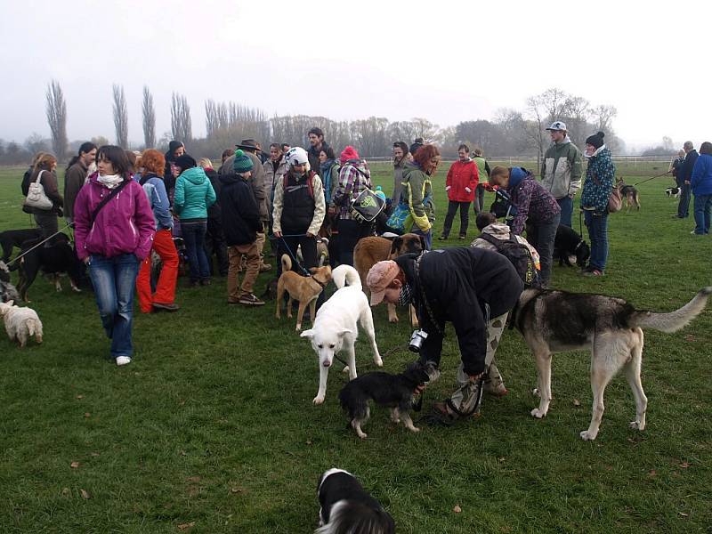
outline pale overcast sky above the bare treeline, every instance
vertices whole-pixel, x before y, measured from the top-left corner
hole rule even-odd
[[[680,6],[684,5],[684,9]],[[0,18],[0,138],[49,137],[44,92],[60,82],[69,140],[115,141],[111,85],[129,140],[142,87],[157,135],[171,92],[205,135],[207,99],[336,120],[492,119],[557,87],[618,109],[630,147],[712,140],[712,2],[298,2],[8,0]]]

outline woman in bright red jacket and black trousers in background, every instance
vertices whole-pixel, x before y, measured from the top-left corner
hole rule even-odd
[[[455,218],[457,208],[460,208],[460,239],[467,237],[467,224],[470,222],[470,204],[474,200],[474,190],[480,181],[477,164],[470,159],[470,148],[461,144],[457,147],[459,159],[450,166],[445,190],[448,191],[448,214],[445,215],[445,226],[440,239],[448,239],[452,220]]]

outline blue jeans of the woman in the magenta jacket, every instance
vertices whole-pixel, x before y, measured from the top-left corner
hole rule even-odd
[[[134,323],[134,288],[139,264],[133,254],[113,258],[92,255],[89,263],[89,276],[101,325],[111,340],[111,356],[114,358],[134,354],[131,327]]]

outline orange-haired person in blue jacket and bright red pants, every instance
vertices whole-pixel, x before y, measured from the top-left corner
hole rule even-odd
[[[173,216],[168,202],[166,185],[163,183],[163,171],[166,158],[158,150],[144,150],[141,156],[143,174],[139,183],[153,210],[156,222],[156,233],[153,236],[151,250],[161,259],[161,272],[156,283],[156,293],[151,291],[151,255],[147,255],[141,263],[136,292],[139,296],[139,307],[143,313],[177,312],[175,303],[175,284],[178,281],[178,251],[175,249],[173,236]]]

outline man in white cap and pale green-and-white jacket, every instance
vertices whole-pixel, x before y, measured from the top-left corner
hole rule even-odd
[[[544,154],[541,184],[561,207],[561,223],[570,227],[573,198],[581,188],[581,152],[571,142],[562,121],[554,121],[546,130],[551,135],[552,145]]]

